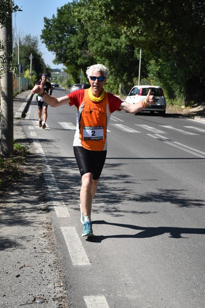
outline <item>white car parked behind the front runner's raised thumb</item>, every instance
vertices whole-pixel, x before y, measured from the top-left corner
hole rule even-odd
[[[155,105],[149,105],[142,111],[150,111],[151,113],[156,111],[161,115],[164,115],[166,113],[166,99],[163,95],[163,89],[161,87],[150,85],[134,86],[125,101],[129,104],[140,103],[146,99],[150,89],[151,95],[154,95],[156,99],[156,103]]]

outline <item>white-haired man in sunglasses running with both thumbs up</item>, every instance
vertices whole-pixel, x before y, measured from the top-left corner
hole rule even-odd
[[[148,105],[155,104],[149,91],[142,103],[128,104],[103,88],[108,78],[108,69],[101,64],[88,67],[89,89],[76,90],[61,98],[51,97],[43,85],[35,86],[38,93],[51,107],[64,104],[77,108],[77,125],[73,142],[75,159],[81,175],[80,221],[84,224],[82,236],[93,236],[91,208],[98,180],[107,154],[107,125],[110,115],[116,110],[136,113]]]

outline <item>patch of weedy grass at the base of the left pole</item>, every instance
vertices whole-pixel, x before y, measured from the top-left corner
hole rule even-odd
[[[8,190],[20,179],[24,171],[23,165],[26,156],[29,154],[28,147],[14,140],[13,153],[5,158],[0,156],[0,193]]]

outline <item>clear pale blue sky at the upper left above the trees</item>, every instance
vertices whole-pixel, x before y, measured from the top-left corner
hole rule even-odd
[[[57,8],[67,4],[68,0],[15,0],[14,4],[21,8],[22,12],[13,13],[12,26],[14,33],[19,37],[31,34],[39,37],[39,50],[43,54],[45,64],[51,68],[63,69],[63,65],[53,64],[55,56],[48,51],[46,45],[40,41],[40,34],[44,28],[44,17],[51,18],[57,14]],[[52,35],[52,34],[51,34]]]

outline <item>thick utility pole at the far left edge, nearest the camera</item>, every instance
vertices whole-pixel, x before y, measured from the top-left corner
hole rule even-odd
[[[10,0],[9,0],[10,1]],[[0,38],[5,47],[1,54],[6,59],[6,70],[1,82],[1,153],[8,157],[13,153],[13,76],[12,63],[12,13],[8,14],[8,24],[0,29]]]

